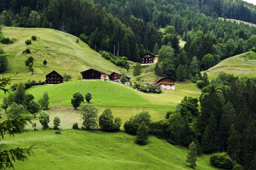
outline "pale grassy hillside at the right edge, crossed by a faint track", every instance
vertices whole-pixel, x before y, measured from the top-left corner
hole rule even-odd
[[[256,53],[249,51],[240,55],[229,57],[212,68],[206,70],[209,79],[216,78],[220,71],[235,76],[256,77]]]

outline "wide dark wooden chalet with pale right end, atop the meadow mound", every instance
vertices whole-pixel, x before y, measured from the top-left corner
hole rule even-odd
[[[83,80],[110,80],[109,74],[95,69],[88,69],[80,72]]]

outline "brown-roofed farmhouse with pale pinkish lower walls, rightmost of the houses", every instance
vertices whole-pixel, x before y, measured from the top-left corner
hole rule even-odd
[[[175,90],[175,81],[177,81],[177,79],[168,76],[155,80],[149,84],[156,85],[157,87],[160,87],[163,90]]]

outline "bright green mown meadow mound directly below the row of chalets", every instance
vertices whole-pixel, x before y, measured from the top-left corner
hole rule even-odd
[[[72,81],[58,85],[32,86],[27,93],[33,94],[37,101],[47,91],[50,98],[50,109],[47,111],[50,114],[50,127],[53,127],[53,118],[59,116],[62,122],[60,127],[70,129],[74,122],[81,124],[80,112],[73,110],[70,103],[75,92],[82,92],[84,95],[91,92],[91,103],[98,107],[99,115],[109,107],[114,116],[122,118],[123,125],[132,115],[143,110],[150,113],[153,121],[161,120],[167,111],[175,109],[185,95],[198,98],[201,94],[195,84],[177,83],[175,88],[175,91],[165,90],[161,94],[154,94],[139,92],[126,85],[110,81]],[[0,94],[0,99],[3,97],[4,93]],[[4,114],[4,111],[2,113]]]

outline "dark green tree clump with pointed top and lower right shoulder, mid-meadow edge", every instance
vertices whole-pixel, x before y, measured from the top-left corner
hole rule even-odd
[[[121,126],[121,118],[115,118],[110,108],[106,107],[99,117],[100,129],[104,131],[118,131]]]

